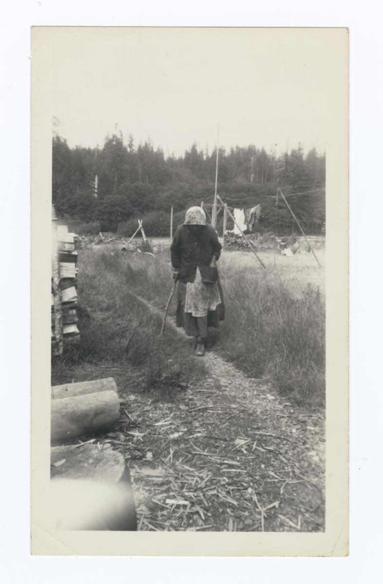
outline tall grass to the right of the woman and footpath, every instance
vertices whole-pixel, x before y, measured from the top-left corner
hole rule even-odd
[[[278,270],[226,272],[222,349],[253,377],[266,376],[297,402],[325,402],[325,303],[319,288],[294,287]]]

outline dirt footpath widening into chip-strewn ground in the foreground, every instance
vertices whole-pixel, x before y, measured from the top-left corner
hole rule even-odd
[[[183,332],[180,342],[192,352]],[[204,361],[203,382],[121,395],[119,427],[105,437],[130,466],[139,529],[323,531],[323,412],[214,351],[192,358]]]

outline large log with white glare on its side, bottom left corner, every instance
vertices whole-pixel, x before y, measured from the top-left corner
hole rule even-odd
[[[55,529],[135,531],[124,457],[93,444],[51,448],[50,513]]]

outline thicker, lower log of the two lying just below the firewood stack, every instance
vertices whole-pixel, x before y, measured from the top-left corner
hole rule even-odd
[[[119,416],[120,402],[115,391],[52,399],[51,443],[106,430]]]

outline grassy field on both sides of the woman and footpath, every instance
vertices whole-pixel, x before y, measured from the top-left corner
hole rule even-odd
[[[323,252],[322,252],[323,256]],[[323,257],[321,256],[321,262]],[[250,377],[266,377],[295,402],[325,401],[323,270],[311,254],[293,258],[226,252],[219,262],[226,319],[217,351]],[[169,251],[111,254],[107,246],[79,253],[81,347],[53,365],[53,383],[115,371],[123,387],[169,391],[203,374],[192,344],[180,342],[137,296],[163,311],[172,287]],[[137,296],[132,295],[134,293]],[[169,313],[173,318],[175,301]]]

